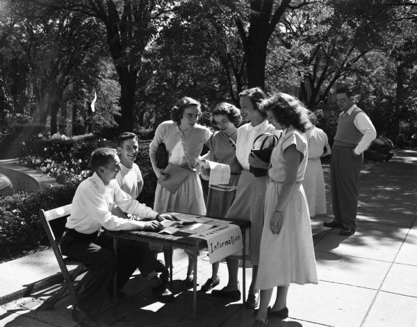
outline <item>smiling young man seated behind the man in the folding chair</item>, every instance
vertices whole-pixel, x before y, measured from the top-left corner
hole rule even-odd
[[[138,137],[135,133],[124,132],[117,137],[117,154],[121,170],[116,176],[116,181],[133,200],[138,199],[143,187],[142,174],[135,163],[138,150]]]

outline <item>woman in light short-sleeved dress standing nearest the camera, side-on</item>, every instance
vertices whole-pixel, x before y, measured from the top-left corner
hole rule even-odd
[[[288,317],[290,283],[317,284],[316,259],[309,207],[302,187],[307,165],[309,111],[289,94],[277,93],[263,102],[263,110],[282,136],[272,151],[265,196],[265,224],[261,239],[256,289],[261,290],[254,326],[268,325],[267,315]],[[268,310],[273,287],[275,304]]]

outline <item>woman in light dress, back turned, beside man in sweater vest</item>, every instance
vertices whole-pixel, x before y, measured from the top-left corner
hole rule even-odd
[[[309,203],[310,217],[327,213],[325,176],[320,158],[329,156],[332,149],[326,133],[316,127],[317,117],[310,112],[309,119],[313,126],[306,131],[306,139],[309,144],[309,160],[307,160],[306,172],[302,185]]]

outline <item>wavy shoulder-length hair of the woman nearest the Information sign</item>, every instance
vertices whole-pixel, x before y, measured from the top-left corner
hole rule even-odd
[[[293,126],[302,133],[311,128],[309,110],[290,94],[278,92],[272,95],[263,101],[262,110],[272,112],[279,124]]]

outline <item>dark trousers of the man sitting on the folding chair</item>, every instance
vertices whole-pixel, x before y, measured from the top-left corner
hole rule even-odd
[[[123,288],[138,268],[143,276],[156,267],[156,259],[147,243],[120,239],[117,255],[113,252],[113,237],[106,233],[83,234],[66,230],[60,241],[63,255],[83,262],[88,272],[83,278],[83,291],[77,305],[87,311],[99,312],[117,269],[117,287]]]

